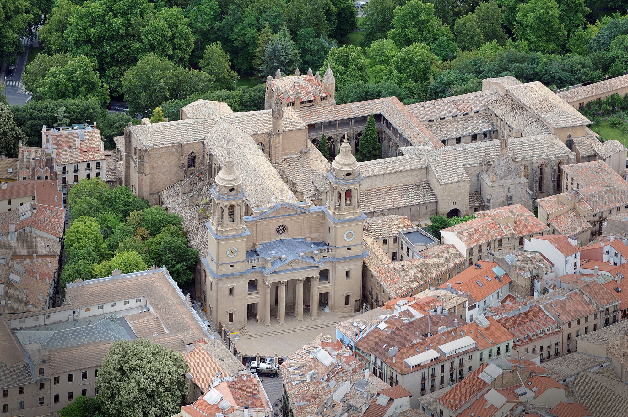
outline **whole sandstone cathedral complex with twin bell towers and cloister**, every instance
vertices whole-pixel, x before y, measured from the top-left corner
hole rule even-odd
[[[420,224],[437,213],[532,210],[563,191],[565,165],[625,168],[623,145],[600,143],[559,95],[512,76],[408,106],[395,97],[337,105],[331,68],[297,70],[267,78],[265,106],[235,113],[197,100],[180,120],[143,120],[116,138],[124,185],[183,217],[202,259],[195,296],[215,329],[359,311],[365,217]],[[382,158],[358,164],[371,115]],[[318,150],[323,135],[331,163]]]

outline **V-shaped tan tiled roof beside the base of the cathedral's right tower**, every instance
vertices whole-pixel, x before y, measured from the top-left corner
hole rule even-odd
[[[368,254],[364,264],[391,299],[414,291],[465,261],[463,255],[453,245],[436,245],[421,252],[425,259],[403,262],[390,260],[377,242],[368,236],[364,237],[364,247]]]

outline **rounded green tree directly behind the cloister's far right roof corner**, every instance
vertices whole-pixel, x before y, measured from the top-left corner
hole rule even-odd
[[[401,48],[391,62],[393,79],[416,98],[425,98],[430,78],[436,73],[436,61],[436,56],[425,44],[415,43]]]

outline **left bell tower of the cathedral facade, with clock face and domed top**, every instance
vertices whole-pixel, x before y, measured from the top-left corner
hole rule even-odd
[[[209,263],[217,274],[246,269],[246,236],[242,177],[236,171],[231,150],[216,175],[212,193],[212,217],[207,222]],[[240,264],[238,264],[238,262]]]

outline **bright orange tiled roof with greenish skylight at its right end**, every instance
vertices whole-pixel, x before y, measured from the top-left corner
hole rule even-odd
[[[497,262],[479,260],[477,263],[482,265],[480,269],[469,267],[449,281],[441,284],[440,289],[447,289],[447,284],[451,284],[452,288],[456,291],[468,291],[470,296],[474,297],[474,299],[482,301],[493,292],[496,292],[511,282],[508,274],[502,276],[501,281],[495,278],[496,274],[492,269],[499,266]],[[490,280],[487,279],[486,276],[488,276]],[[478,281],[481,285],[477,283]]]

